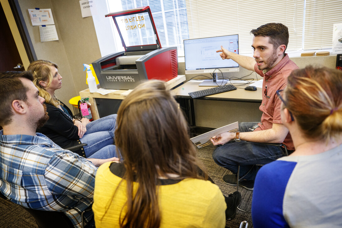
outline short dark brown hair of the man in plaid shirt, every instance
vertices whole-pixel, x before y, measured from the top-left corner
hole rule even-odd
[[[13,100],[27,101],[28,88],[20,78],[33,81],[31,72],[28,71],[5,71],[0,72],[0,126],[5,126],[12,121]]]

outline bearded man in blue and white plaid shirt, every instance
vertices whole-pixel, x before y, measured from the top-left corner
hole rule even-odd
[[[97,167],[110,159],[85,159],[36,133],[49,118],[29,71],[0,72],[0,192],[24,207],[62,211],[75,228],[91,207]],[[84,215],[94,226],[93,212]]]

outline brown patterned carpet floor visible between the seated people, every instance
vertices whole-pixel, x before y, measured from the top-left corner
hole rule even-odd
[[[213,179],[215,184],[219,186],[223,195],[227,196],[236,191],[236,186],[230,186],[223,182],[222,177],[231,172],[220,167],[213,161],[212,152],[214,149],[214,146],[206,146],[197,149],[197,157],[206,166],[208,175]],[[239,191],[242,196],[239,207],[246,211],[250,211],[253,192],[241,187],[239,188]],[[241,221],[247,221],[249,224],[248,227],[253,227],[251,215],[237,210],[235,218],[226,222],[226,228],[238,228],[240,227]],[[38,226],[35,219],[20,206],[0,198],[0,227],[37,228]]]

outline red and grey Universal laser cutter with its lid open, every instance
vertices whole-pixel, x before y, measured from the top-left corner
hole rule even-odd
[[[92,63],[103,89],[129,90],[148,80],[177,77],[177,47],[162,48],[149,6],[109,13],[124,51]]]

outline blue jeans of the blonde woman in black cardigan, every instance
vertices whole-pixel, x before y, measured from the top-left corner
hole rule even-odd
[[[87,124],[87,132],[80,139],[87,158],[107,159],[117,157],[114,145],[116,114],[94,120]],[[120,156],[120,155],[119,155]]]

